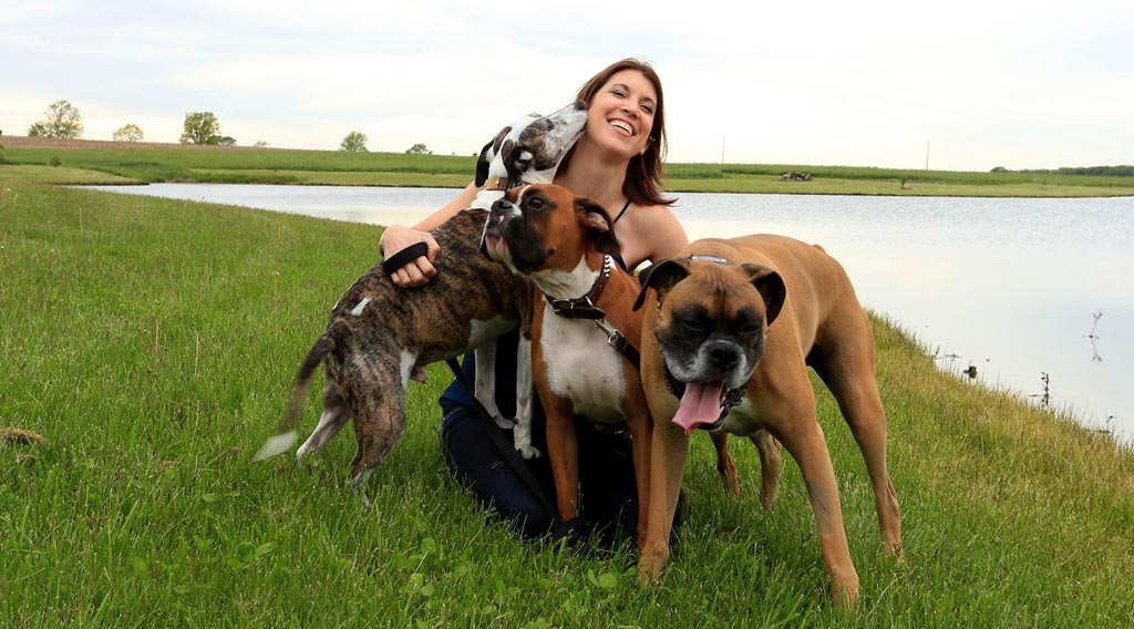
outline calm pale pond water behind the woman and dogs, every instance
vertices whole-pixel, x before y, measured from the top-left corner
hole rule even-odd
[[[457,190],[156,184],[102,187],[346,221],[412,224]],[[1134,439],[1134,197],[683,194],[691,239],[784,233],[822,245],[863,304],[939,365]],[[376,248],[376,245],[375,245]],[[375,252],[376,253],[376,252]],[[345,286],[344,286],[345,288]]]

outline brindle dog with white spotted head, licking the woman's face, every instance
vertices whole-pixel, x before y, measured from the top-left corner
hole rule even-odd
[[[437,277],[409,289],[398,288],[390,279],[393,269],[425,255],[423,244],[355,281],[331,309],[327,330],[299,368],[287,415],[256,459],[278,454],[295,442],[298,411],[320,364],[327,372],[323,411],[296,457],[302,460],[321,450],[354,417],[357,449],[349,476],[354,487],[365,482],[401,436],[406,388],[411,379],[424,380],[423,368],[430,363],[475,350],[475,396],[503,425],[493,399],[496,339],[517,323],[526,329],[532,288],[481,255],[486,210],[521,180],[550,181],[585,125],[586,110],[576,102],[551,116],[525,117],[484,146],[475,179],[484,189],[473,207],[431,232],[441,246],[433,261]],[[531,343],[522,334],[519,365],[530,364],[530,354]],[[538,453],[531,448],[531,389],[530,374],[521,373],[515,441],[528,458]]]

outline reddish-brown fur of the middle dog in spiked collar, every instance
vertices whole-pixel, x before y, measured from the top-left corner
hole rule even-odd
[[[538,203],[538,210],[530,204]],[[517,214],[518,213],[518,214]],[[490,243],[491,241],[491,243]],[[501,245],[500,243],[503,243]],[[600,205],[574,196],[560,186],[540,185],[517,188],[505,201],[493,205],[485,228],[485,250],[501,262],[517,267],[542,288],[544,279],[553,277],[561,281],[567,275],[581,271],[581,261],[591,274],[603,267],[604,256],[618,255],[618,243],[610,230],[610,218]],[[497,252],[497,253],[492,253]],[[505,252],[505,253],[499,253]],[[607,286],[594,304],[606,313],[606,322],[621,332],[629,343],[637,348],[642,342],[642,313],[633,308],[638,292],[638,281],[617,265],[610,270]],[[564,296],[556,296],[564,297]],[[557,508],[564,521],[579,516],[578,510],[578,452],[573,417],[578,409],[572,394],[556,386],[564,386],[564,379],[552,379],[552,368],[564,374],[573,374],[567,388],[583,388],[587,384],[593,359],[603,352],[615,352],[608,346],[603,333],[598,332],[592,321],[564,321],[552,314],[543,295],[536,291],[533,298],[532,316],[532,376],[540,401],[547,414],[548,454],[555,474]],[[592,351],[586,365],[557,364],[548,362],[557,348],[547,340],[545,325],[568,326],[575,331],[592,332],[587,348]],[[620,398],[609,400],[613,407],[608,415],[626,422],[633,439],[634,470],[638,490],[638,545],[645,541],[645,527],[650,510],[650,444],[653,422],[642,389],[637,365],[628,359],[619,362]],[[611,376],[612,380],[619,380]],[[587,400],[592,402],[594,400]],[[600,411],[601,414],[602,411]],[[591,417],[604,422],[602,417]],[[736,467],[728,457],[727,436],[714,435],[718,452],[718,470],[734,493],[739,488]]]

